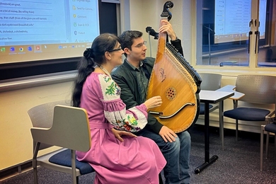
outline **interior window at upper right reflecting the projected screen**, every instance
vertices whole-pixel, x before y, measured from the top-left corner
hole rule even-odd
[[[268,55],[276,56],[275,4],[276,0],[198,0],[197,65],[248,67],[254,62],[276,67]]]

